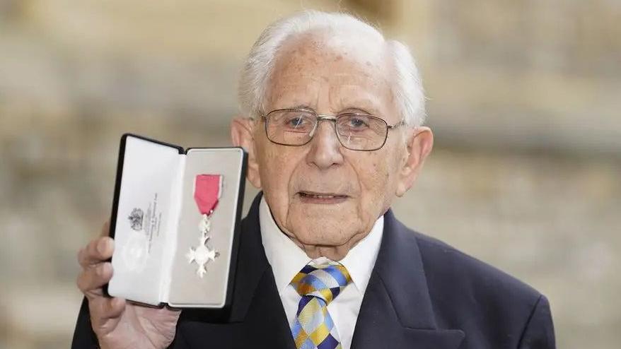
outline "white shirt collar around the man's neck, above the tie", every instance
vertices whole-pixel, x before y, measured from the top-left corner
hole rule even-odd
[[[321,264],[325,261],[330,261],[325,257],[315,260],[310,259],[303,249],[291,241],[274,221],[265,197],[261,198],[259,206],[259,224],[265,256],[267,256],[267,261],[272,266],[274,280],[276,280],[279,293],[285,290],[294,276],[306,264],[311,262]],[[368,285],[368,279],[371,278],[371,271],[373,271],[373,266],[375,266],[380,250],[383,230],[384,217],[382,215],[376,220],[376,223],[371,228],[371,232],[350,249],[344,259],[339,261],[340,264],[347,268],[349,275],[352,276],[352,283],[354,283],[361,294],[364,294]]]

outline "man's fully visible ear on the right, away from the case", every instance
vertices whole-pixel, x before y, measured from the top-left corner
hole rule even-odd
[[[400,169],[397,196],[403,196],[417,179],[424,161],[434,148],[434,134],[429,127],[421,126],[414,129],[414,134],[407,140],[407,155]]]

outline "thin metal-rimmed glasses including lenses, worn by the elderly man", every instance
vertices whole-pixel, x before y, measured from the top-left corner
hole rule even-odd
[[[336,116],[317,114],[313,110],[277,109],[262,115],[269,141],[283,146],[303,146],[315,136],[320,121],[334,122],[341,144],[350,150],[378,150],[386,143],[388,130],[405,124],[389,125],[369,114],[344,112]]]

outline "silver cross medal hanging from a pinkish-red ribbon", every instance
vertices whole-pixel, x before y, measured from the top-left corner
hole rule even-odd
[[[220,255],[209,246],[209,230],[211,230],[211,215],[213,215],[222,191],[221,175],[197,175],[195,179],[194,199],[202,218],[199,221],[199,244],[190,247],[185,255],[189,264],[196,263],[197,275],[202,278],[207,273],[205,266],[209,261],[215,261]]]

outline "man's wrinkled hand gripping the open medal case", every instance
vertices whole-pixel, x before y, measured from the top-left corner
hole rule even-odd
[[[180,311],[142,307],[122,298],[106,297],[102,286],[112,278],[112,264],[106,261],[114,251],[108,237],[110,223],[101,236],[80,250],[82,272],[78,288],[88,300],[91,325],[101,348],[166,348],[175,338]]]

